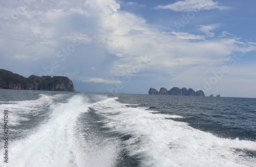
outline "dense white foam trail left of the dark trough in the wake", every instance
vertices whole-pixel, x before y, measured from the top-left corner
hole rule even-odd
[[[95,142],[88,145],[77,130],[83,128],[77,127],[77,119],[81,113],[88,112],[87,101],[77,94],[68,103],[56,105],[48,123],[25,139],[9,144],[8,164],[1,160],[0,166],[113,166],[117,143],[97,146],[101,138],[94,138]]]

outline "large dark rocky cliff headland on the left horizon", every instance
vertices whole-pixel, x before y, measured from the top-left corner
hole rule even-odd
[[[68,77],[31,75],[25,78],[5,69],[0,69],[0,89],[75,91]]]

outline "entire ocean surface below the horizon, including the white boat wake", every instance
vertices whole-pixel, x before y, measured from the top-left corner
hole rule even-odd
[[[256,99],[0,89],[0,110],[0,166],[256,166]]]

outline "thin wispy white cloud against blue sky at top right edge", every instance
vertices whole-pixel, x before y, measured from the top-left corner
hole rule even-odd
[[[230,10],[231,7],[221,6],[219,2],[215,2],[212,0],[184,0],[177,1],[174,4],[169,5],[159,5],[156,7],[157,9],[169,9],[176,12],[188,12],[188,11],[200,11],[200,10],[211,10],[211,9],[219,9],[219,10]]]

